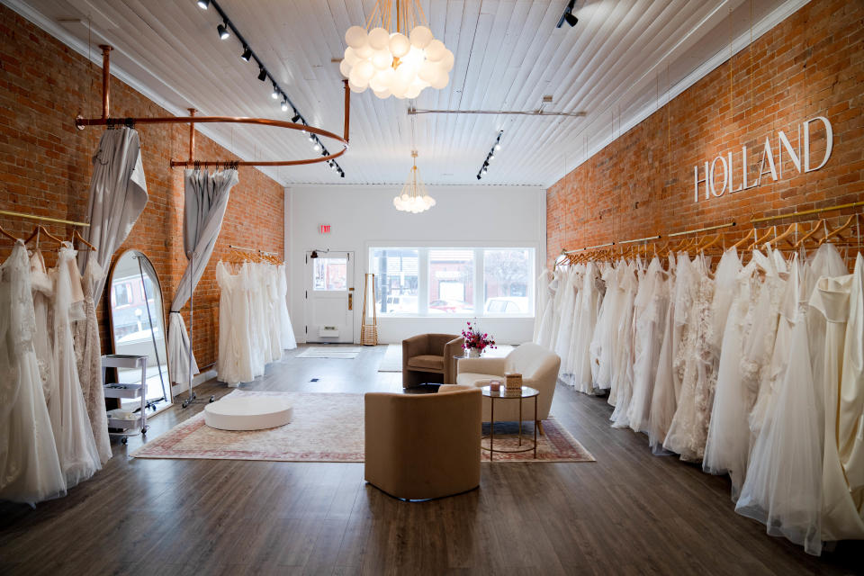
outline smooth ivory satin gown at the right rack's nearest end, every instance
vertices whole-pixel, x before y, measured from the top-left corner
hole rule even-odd
[[[858,266],[859,261],[856,263]],[[850,486],[840,456],[838,437],[842,424],[844,434],[848,435],[850,419],[847,419],[858,403],[857,394],[842,389],[842,366],[847,322],[850,315],[851,294],[860,291],[860,266],[857,274],[833,278],[820,278],[810,298],[810,306],[816,314],[821,314],[826,322],[822,374],[816,374],[824,388],[824,453],[822,477],[822,539],[823,540],[860,540],[864,539],[864,506],[853,495],[860,495],[860,486]],[[858,285],[856,285],[858,284]],[[857,296],[856,299],[860,298]],[[860,345],[860,335],[853,337]],[[820,343],[815,342],[814,346]],[[860,354],[860,350],[856,351]],[[855,361],[852,361],[853,363]],[[860,392],[859,392],[860,393]],[[860,426],[860,419],[857,420]],[[862,435],[861,429],[857,430]],[[843,438],[845,440],[846,438]],[[860,477],[860,473],[856,472]],[[850,489],[857,489],[851,491]]]

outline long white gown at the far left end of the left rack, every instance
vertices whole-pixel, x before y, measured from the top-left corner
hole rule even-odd
[[[0,500],[31,505],[66,493],[33,344],[40,329],[19,240],[0,265]]]

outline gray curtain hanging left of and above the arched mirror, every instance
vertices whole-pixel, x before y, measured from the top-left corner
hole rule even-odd
[[[90,202],[87,207],[90,228],[83,236],[96,251],[78,252],[78,266],[85,272],[87,259],[94,257],[107,273],[111,257],[129,236],[135,221],[147,205],[147,181],[141,163],[138,130],[105,130],[93,157]],[[94,285],[93,299],[99,302],[108,275]]]

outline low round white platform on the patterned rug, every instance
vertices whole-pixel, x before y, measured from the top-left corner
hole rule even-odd
[[[273,397],[223,398],[204,407],[204,422],[220,430],[263,430],[291,422],[293,409]]]

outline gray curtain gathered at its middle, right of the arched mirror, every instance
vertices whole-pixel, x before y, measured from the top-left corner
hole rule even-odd
[[[168,369],[173,383],[187,383],[190,377],[189,335],[180,310],[201,281],[216,246],[230,190],[239,181],[237,170],[213,174],[206,170],[186,170],[184,180],[183,247],[190,264],[180,279],[168,315]],[[194,356],[191,366],[191,374],[198,374]]]

